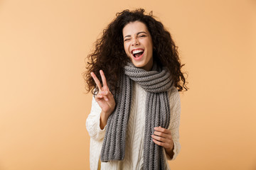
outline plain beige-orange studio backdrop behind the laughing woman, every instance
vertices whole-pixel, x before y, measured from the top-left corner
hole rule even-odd
[[[189,74],[172,170],[256,169],[256,1],[0,0],[0,169],[89,169],[81,73],[124,8],[154,11]]]

